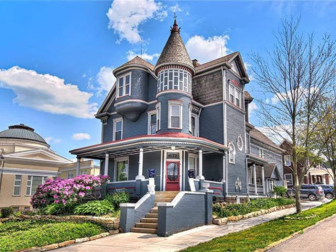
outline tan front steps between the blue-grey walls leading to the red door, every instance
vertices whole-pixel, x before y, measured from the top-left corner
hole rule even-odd
[[[154,207],[146,214],[145,218],[141,218],[140,222],[135,223],[135,227],[131,228],[131,232],[156,234],[158,230],[158,202],[171,202],[179,192],[166,191],[155,192]]]

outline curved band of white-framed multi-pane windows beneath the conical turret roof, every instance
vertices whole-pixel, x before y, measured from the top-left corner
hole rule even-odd
[[[191,94],[191,74],[181,69],[162,70],[158,75],[158,92],[180,90]]]

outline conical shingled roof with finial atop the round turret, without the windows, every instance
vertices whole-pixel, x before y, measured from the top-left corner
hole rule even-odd
[[[193,72],[195,71],[180,36],[180,28],[177,26],[176,19],[174,20],[174,25],[170,30],[170,36],[167,43],[155,65],[155,71],[158,67],[165,64],[179,64],[190,68]]]

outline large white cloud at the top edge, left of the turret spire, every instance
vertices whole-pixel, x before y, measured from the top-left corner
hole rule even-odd
[[[125,39],[135,44],[141,41],[140,24],[152,18],[163,20],[168,13],[155,0],[114,0],[106,15],[110,20],[109,28],[119,35],[117,42]]]

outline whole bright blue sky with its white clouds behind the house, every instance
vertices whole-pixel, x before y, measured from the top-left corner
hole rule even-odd
[[[239,50],[252,64],[249,53],[266,55],[289,15],[301,15],[301,31],[336,39],[332,1],[2,1],[0,130],[27,124],[68,158],[71,149],[100,143],[93,114],[113,84],[112,69],[140,53],[141,38],[143,56],[155,64],[173,11],[201,63]],[[246,89],[258,96],[253,80]],[[256,116],[251,122],[259,125]]]

